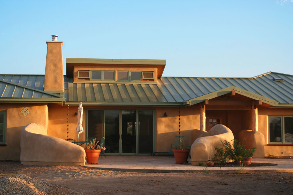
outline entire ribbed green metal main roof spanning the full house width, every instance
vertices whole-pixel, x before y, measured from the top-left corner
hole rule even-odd
[[[193,105],[231,90],[272,106],[293,106],[293,75],[275,72],[252,78],[161,77],[155,84],[74,83],[72,77],[64,76],[64,97],[44,91],[44,75],[0,75],[0,101],[64,98],[66,104],[178,106]]]

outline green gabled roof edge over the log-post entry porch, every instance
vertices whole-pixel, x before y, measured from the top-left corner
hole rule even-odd
[[[255,93],[252,93],[252,92],[249,92],[249,91],[246,91],[244,89],[234,87],[234,86],[227,87],[227,88],[221,89],[219,91],[215,91],[215,92],[212,92],[212,93],[200,96],[200,97],[190,99],[188,101],[185,101],[183,104],[185,106],[192,106],[197,103],[202,103],[202,102],[205,103],[207,100],[210,100],[210,99],[222,96],[222,95],[226,95],[229,93],[239,94],[239,95],[248,97],[252,100],[261,100],[262,103],[266,103],[270,106],[277,106],[278,105],[278,102],[276,100],[273,100],[273,99],[270,99],[270,98],[267,98],[264,96],[260,96],[258,94],[255,94]]]

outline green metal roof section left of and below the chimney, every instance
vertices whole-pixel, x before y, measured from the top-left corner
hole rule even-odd
[[[44,75],[0,75],[0,101],[60,101],[44,90]]]

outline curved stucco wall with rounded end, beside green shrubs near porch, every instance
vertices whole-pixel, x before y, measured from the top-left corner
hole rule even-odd
[[[195,139],[191,145],[191,164],[198,165],[198,161],[202,161],[206,165],[207,161],[209,159],[212,160],[216,153],[214,146],[222,146],[221,140],[227,140],[232,144],[233,139],[234,135],[228,127],[225,125],[215,125],[207,132],[207,136]]]

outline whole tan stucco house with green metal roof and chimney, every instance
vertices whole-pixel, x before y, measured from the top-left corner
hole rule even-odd
[[[189,146],[196,130],[223,124],[235,139],[241,130],[263,135],[258,156],[293,154],[293,75],[162,77],[165,60],[85,58],[67,58],[63,75],[63,42],[46,43],[45,75],[0,75],[0,159],[19,160],[20,132],[32,122],[50,136],[77,139],[80,102],[79,139],[105,137],[107,155],[169,151],[179,111]]]

